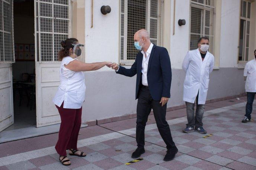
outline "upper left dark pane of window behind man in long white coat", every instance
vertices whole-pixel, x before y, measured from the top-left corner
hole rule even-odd
[[[191,33],[201,34],[201,17],[202,10],[199,8],[191,7]]]

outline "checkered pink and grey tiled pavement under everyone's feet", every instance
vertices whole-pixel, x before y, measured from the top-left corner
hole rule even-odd
[[[136,119],[116,121],[80,130],[78,146],[86,157],[69,156],[71,166],[62,166],[54,149],[58,134],[0,144],[1,169],[256,169],[256,121],[241,122],[244,97],[206,104],[204,127],[213,136],[182,133],[185,110],[166,115],[172,137],[179,149],[172,161],[165,162],[163,142],[152,115],[145,131],[143,160],[125,165],[136,149]],[[256,108],[256,104],[254,105]],[[252,117],[256,117],[256,111]],[[177,115],[180,115],[177,117]],[[116,132],[117,131],[117,132]]]

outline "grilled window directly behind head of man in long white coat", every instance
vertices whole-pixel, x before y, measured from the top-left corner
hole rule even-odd
[[[209,38],[209,51],[213,53],[215,0],[191,0],[190,3],[190,50],[197,49],[198,39]]]

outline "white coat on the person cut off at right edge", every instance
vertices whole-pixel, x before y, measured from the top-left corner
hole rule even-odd
[[[256,92],[256,60],[253,59],[246,63],[244,67],[244,76],[246,77],[245,91]]]

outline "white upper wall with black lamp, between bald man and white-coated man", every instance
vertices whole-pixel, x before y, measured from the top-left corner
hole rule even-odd
[[[174,15],[174,0],[171,1],[171,47],[170,57],[172,69],[181,69],[182,61],[189,49],[189,0],[176,0],[175,9],[175,23],[173,21]],[[184,26],[178,25],[179,19],[185,19]],[[175,34],[173,35],[173,24],[175,24]],[[164,35],[163,35],[164,36]]]

